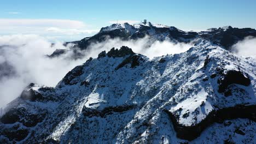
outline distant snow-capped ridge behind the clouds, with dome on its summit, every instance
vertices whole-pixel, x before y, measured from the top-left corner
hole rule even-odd
[[[150,22],[142,22],[135,25],[129,23],[114,23],[113,25],[101,28],[100,32],[92,37],[86,37],[82,40],[67,42],[67,44],[74,44],[72,51],[74,51],[74,58],[82,58],[83,53],[79,50],[86,50],[91,44],[101,43],[108,39],[119,38],[121,40],[138,40],[145,37],[154,41],[170,40],[173,43],[190,43],[198,39],[207,39],[214,44],[219,44],[226,50],[230,50],[231,46],[239,40],[243,40],[248,36],[256,37],[256,30],[252,28],[232,28],[231,26],[210,28],[207,31],[201,32],[187,32],[182,31],[173,26],[165,26],[160,24],[153,24]],[[57,57],[65,53],[66,50],[56,50],[50,57]]]

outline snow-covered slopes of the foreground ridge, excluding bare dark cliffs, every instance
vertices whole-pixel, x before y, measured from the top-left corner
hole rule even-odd
[[[42,94],[43,100],[18,98],[7,109],[24,107],[27,113],[46,113],[43,121],[33,127],[0,123],[0,128],[19,125],[18,129],[27,129],[27,136],[18,143],[256,142],[256,123],[250,119],[213,123],[187,141],[176,136],[168,116],[168,112],[175,113],[177,122],[185,127],[199,124],[217,109],[255,105],[255,57],[236,56],[205,40],[176,55],[134,56],[139,62],[135,67],[125,60],[130,55],[103,56],[76,67],[75,74],[66,76],[68,82],[64,78],[55,88],[28,88]],[[206,59],[210,61],[206,63]],[[218,92],[217,69],[224,74],[241,71],[251,84],[231,84],[232,95],[225,97]],[[4,140],[9,141],[1,135],[0,141]]]

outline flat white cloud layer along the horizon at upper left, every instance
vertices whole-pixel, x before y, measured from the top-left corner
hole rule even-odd
[[[79,40],[98,32],[82,21],[61,19],[0,19],[0,35],[37,34],[63,41]]]

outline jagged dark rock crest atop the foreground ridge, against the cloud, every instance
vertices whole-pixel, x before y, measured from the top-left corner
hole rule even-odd
[[[124,57],[127,55],[135,54],[132,49],[127,46],[122,46],[120,50],[115,49],[114,47],[107,53],[108,57]]]

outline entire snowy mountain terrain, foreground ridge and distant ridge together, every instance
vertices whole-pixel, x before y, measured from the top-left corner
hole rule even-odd
[[[153,59],[132,47],[113,48],[69,71],[56,87],[31,83],[1,110],[0,143],[253,143],[256,59],[229,50],[255,34],[151,23],[104,27],[70,42],[71,50],[107,37],[196,41],[186,52]]]

